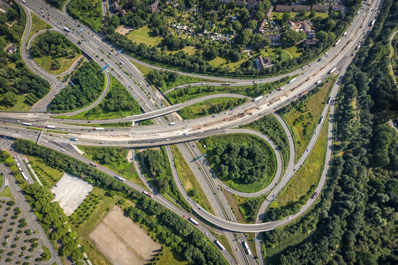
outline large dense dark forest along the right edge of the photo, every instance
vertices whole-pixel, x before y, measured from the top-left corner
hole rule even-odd
[[[319,203],[298,222],[263,233],[270,248],[307,236],[267,256],[269,264],[398,263],[398,134],[386,124],[398,109],[398,89],[388,70],[396,27],[398,2],[385,0],[343,79],[334,158]]]

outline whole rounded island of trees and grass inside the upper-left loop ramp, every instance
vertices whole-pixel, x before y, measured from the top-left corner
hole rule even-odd
[[[82,52],[63,34],[48,30],[35,37],[30,54],[50,74],[61,74],[76,62]]]

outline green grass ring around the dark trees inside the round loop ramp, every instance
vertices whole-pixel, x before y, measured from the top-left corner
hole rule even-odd
[[[230,187],[231,189],[235,189],[241,192],[253,193],[256,191],[260,191],[261,189],[266,187],[275,177],[277,169],[275,152],[273,152],[268,142],[266,142],[262,138],[259,138],[258,136],[244,133],[216,135],[201,139],[199,140],[199,143],[201,145],[207,146],[207,161],[209,161],[211,167],[214,169],[219,179],[223,181],[226,185],[228,185],[228,187]],[[234,143],[234,146],[242,145],[246,148],[249,148],[251,146],[258,146],[259,148],[263,149],[263,158],[265,158],[266,160],[265,163],[267,165],[267,168],[265,170],[262,170],[262,173],[265,173],[265,175],[263,175],[263,178],[261,180],[252,183],[244,183],[242,179],[233,179],[230,177],[229,174],[222,175],[222,172],[225,171],[225,169],[222,170],[222,168],[225,165],[220,164],[220,161],[217,162],[217,160],[220,160],[220,158],[217,159],[217,157],[219,157],[219,155],[217,154],[219,152],[217,150],[218,148],[221,148],[220,156],[224,156],[222,152],[224,152],[224,149],[228,147],[230,143]],[[261,153],[259,152],[257,153],[257,155],[260,154]],[[248,158],[250,158],[250,160]],[[254,161],[258,159],[258,157],[250,157],[250,155],[248,154],[245,159],[248,159],[248,161]],[[250,173],[248,173],[248,175],[250,175]]]

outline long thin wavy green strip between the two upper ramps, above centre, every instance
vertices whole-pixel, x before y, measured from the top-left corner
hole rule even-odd
[[[286,84],[292,78],[293,76],[284,77],[275,82],[265,83],[262,85],[255,84],[253,86],[188,86],[186,88],[184,87],[174,90],[166,94],[166,96],[172,104],[182,103],[197,97],[219,93],[232,93],[246,95],[248,97],[256,97],[258,95],[264,95],[271,90]]]

